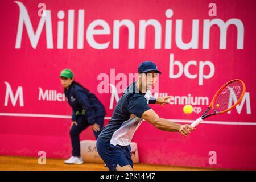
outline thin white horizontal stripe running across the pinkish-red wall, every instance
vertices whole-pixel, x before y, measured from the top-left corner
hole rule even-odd
[[[63,118],[71,119],[69,115],[54,115],[54,114],[23,114],[23,113],[0,113],[0,116],[12,116],[12,117],[38,117],[38,118]],[[105,117],[104,119],[110,120],[111,117]],[[184,119],[168,119],[171,122],[176,123],[192,123],[193,120]],[[256,122],[230,122],[230,121],[203,121],[201,124],[213,124],[213,125],[251,125],[256,126]]]

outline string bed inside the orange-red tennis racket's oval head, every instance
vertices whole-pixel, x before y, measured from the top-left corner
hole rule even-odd
[[[215,98],[213,108],[217,112],[225,111],[240,99],[243,93],[242,82],[236,80],[227,84]]]

